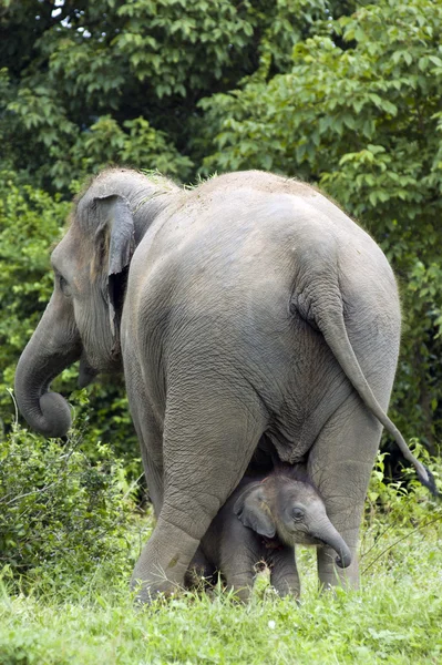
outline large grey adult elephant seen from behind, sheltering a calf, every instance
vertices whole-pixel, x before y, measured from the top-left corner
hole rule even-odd
[[[372,238],[306,184],[263,172],[194,190],[124,168],[80,196],[52,254],[54,291],[16,377],[19,408],[68,431],[51,380],[123,370],[157,523],[135,566],[141,597],[182,584],[210,521],[267,441],[307,461],[350,548],[320,582],[357,584],[356,549],[381,424],[389,420],[400,307]]]

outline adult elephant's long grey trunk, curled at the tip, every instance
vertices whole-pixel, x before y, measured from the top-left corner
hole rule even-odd
[[[19,410],[28,424],[45,437],[63,437],[71,427],[68,402],[61,395],[49,392],[49,386],[80,355],[72,305],[54,294],[16,371]]]

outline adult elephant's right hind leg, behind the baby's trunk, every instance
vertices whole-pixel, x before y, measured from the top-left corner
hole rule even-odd
[[[319,582],[325,589],[359,586],[359,530],[380,437],[381,426],[352,395],[327,422],[310,451],[309,475],[351,552],[350,566],[340,569],[331,548],[318,548]]]

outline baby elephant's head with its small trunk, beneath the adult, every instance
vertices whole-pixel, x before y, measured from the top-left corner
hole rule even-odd
[[[350,550],[327,516],[318,491],[309,483],[274,473],[251,483],[237,499],[234,511],[245,526],[266,538],[278,535],[289,546],[329,545],[336,563],[348,567]]]

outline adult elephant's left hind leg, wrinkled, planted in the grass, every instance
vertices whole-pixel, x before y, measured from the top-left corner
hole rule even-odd
[[[167,405],[163,505],[133,573],[142,601],[184,585],[201,539],[243,478],[266,428],[258,400],[255,407],[245,408],[219,386],[202,391],[199,383],[198,390],[179,390]]]

